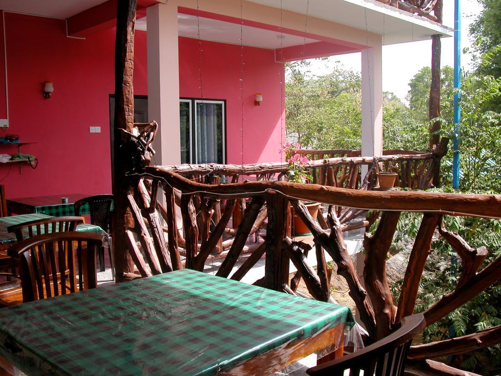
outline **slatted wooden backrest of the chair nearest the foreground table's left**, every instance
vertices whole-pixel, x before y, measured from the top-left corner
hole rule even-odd
[[[102,235],[71,231],[34,236],[11,247],[19,256],[23,302],[96,288],[96,252],[102,245]]]

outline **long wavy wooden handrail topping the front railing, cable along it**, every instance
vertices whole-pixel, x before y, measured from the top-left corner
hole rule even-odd
[[[216,198],[260,196],[267,190],[273,190],[305,201],[364,210],[435,212],[436,214],[501,218],[501,195],[360,191],[285,181],[249,181],[214,186],[196,183],[153,166],[145,167],[141,175],[165,179],[183,193],[202,190],[205,196]]]

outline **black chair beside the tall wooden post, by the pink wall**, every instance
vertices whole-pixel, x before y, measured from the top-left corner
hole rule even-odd
[[[80,216],[82,207],[84,205],[89,205],[89,213],[91,217],[91,224],[99,226],[104,231],[108,233],[106,238],[106,243],[108,244],[108,252],[110,256],[111,265],[111,276],[115,278],[115,272],[113,269],[113,246],[111,241],[111,205],[113,204],[113,195],[96,195],[86,197],[85,199],[78,200],[75,203],[75,215]],[[98,252],[99,256],[99,269],[100,271],[105,271],[104,266],[104,249],[100,249]]]

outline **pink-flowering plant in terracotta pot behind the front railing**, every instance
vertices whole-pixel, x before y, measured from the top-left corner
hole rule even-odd
[[[280,151],[285,154],[287,162],[289,163],[289,181],[307,183],[313,180],[309,171],[306,170],[310,158],[306,155],[299,154],[297,152],[299,149],[301,149],[301,144],[287,142],[282,145]],[[320,203],[303,202],[303,204],[305,204],[310,215],[316,219]],[[296,213],[293,213],[293,232],[294,235],[311,235],[306,224]]]

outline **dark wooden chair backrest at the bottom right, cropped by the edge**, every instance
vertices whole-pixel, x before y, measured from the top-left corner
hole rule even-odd
[[[407,353],[412,338],[426,325],[422,313],[402,319],[400,328],[387,337],[374,342],[359,351],[331,360],[316,367],[309,368],[306,373],[319,376],[342,376],[350,370],[350,376],[364,375],[401,376],[404,374]]]

